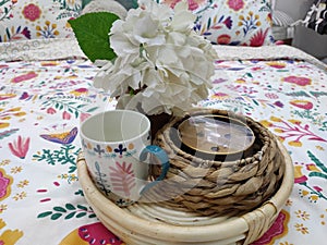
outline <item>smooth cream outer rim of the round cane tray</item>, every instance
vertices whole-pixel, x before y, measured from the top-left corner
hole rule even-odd
[[[264,216],[272,217],[274,219],[278,216],[282,206],[289,198],[290,193],[292,192],[293,164],[291,157],[289,156],[284,146],[279,140],[277,140],[277,144],[281,149],[281,152],[286,157],[286,171],[280,188],[261,207],[241,217],[233,217],[234,219],[228,219],[214,224],[181,226],[160,221],[152,222],[149,220],[142,219],[128,209],[120,208],[114,205],[95,187],[93,181],[88,175],[84,158],[80,158],[77,160],[77,173],[82,188],[85,192],[85,198],[87,199],[88,204],[92,207],[94,206],[93,208],[98,211],[98,213],[96,215],[105,216],[106,218],[110,217],[112,222],[116,222],[116,224],[120,224],[131,232],[137,229],[137,233],[144,236],[154,236],[164,241],[170,240],[171,242],[204,242],[203,237],[205,237],[205,241],[215,241],[217,240],[217,237],[219,237],[219,240],[229,238],[232,237],[231,235],[233,233],[242,234],[251,229],[253,230],[253,228],[251,228],[251,222],[256,219],[256,217],[262,217],[263,213]],[[102,204],[101,209],[99,210],[97,206],[95,206],[95,204]],[[110,228],[108,229],[110,230]],[[119,234],[117,235],[120,236]]]

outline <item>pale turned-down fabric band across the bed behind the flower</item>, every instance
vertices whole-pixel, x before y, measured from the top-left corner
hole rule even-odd
[[[327,65],[306,52],[291,46],[241,47],[215,45],[219,60],[251,60],[251,59],[280,59],[292,58],[306,60],[327,69]],[[61,60],[69,58],[87,59],[75,38],[55,38],[21,40],[0,44],[0,60],[3,61],[37,61]]]

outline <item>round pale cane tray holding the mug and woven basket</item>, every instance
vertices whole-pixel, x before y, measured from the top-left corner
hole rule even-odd
[[[161,204],[135,204],[120,208],[108,200],[90,180],[85,159],[77,159],[84,195],[98,219],[129,245],[250,244],[274,223],[293,186],[293,166],[286,148],[277,142],[284,161],[279,189],[261,207],[239,217],[201,216]]]

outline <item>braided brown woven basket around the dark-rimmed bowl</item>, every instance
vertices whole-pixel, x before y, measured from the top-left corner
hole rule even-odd
[[[203,159],[190,155],[172,135],[185,118],[175,118],[159,131],[154,144],[164,148],[170,159],[165,181],[147,194],[148,201],[167,199],[168,205],[202,215],[237,215],[253,210],[270,198],[281,184],[286,158],[276,137],[261,123],[225,110],[201,109],[192,115],[217,114],[243,121],[254,132],[255,142],[239,159]],[[231,159],[231,160],[230,160]],[[155,175],[160,168],[155,167]]]

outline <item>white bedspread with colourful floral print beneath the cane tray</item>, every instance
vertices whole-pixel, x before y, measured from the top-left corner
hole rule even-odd
[[[327,72],[308,61],[217,61],[199,106],[261,121],[289,150],[294,188],[255,244],[325,244]],[[0,62],[0,244],[123,244],[97,220],[76,175],[80,122],[116,102],[89,61]]]

